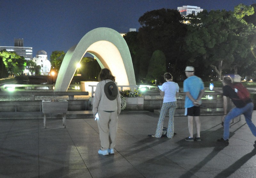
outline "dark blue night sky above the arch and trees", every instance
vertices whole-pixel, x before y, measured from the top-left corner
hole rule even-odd
[[[140,27],[145,12],[193,5],[202,9],[233,11],[238,4],[256,0],[0,0],[0,46],[14,46],[23,38],[33,57],[45,50],[67,52],[90,30],[109,27],[119,33]]]

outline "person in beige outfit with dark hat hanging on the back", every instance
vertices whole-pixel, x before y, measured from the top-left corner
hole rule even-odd
[[[118,115],[121,112],[121,99],[115,77],[109,69],[101,69],[99,83],[93,97],[93,116],[97,119],[100,131],[101,155],[114,154]]]

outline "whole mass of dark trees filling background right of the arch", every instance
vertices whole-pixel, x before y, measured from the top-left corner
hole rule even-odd
[[[186,78],[186,66],[194,66],[195,74],[204,81],[218,81],[225,74],[256,79],[253,7],[256,4],[239,4],[234,7],[234,12],[204,10],[197,16],[188,16],[188,24],[181,23],[183,18],[177,10],[159,9],[144,13],[139,18],[139,31],[124,36],[131,52],[136,81],[141,82],[150,73],[147,79],[158,78],[152,66],[156,69],[161,66],[161,58],[151,60],[156,50],[163,51],[166,57],[164,72],[170,72],[174,81]]]

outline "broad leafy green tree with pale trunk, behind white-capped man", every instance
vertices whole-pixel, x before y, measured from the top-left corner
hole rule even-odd
[[[203,11],[188,25],[185,49],[192,54],[190,62],[200,59],[214,69],[220,80],[223,69],[244,65],[250,53],[247,40],[251,34],[252,27],[231,11]]]

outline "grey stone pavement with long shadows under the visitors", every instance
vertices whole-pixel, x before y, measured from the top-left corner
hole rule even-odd
[[[229,145],[218,145],[221,116],[201,117],[201,142],[187,142],[187,117],[175,117],[172,139],[155,134],[158,115],[123,111],[115,154],[102,156],[97,122],[92,118],[0,119],[0,177],[9,178],[195,178],[256,177],[256,138],[244,116],[231,124]],[[256,112],[253,123],[256,124]],[[165,118],[164,127],[168,119]],[[195,130],[195,129],[194,129]],[[195,131],[194,131],[195,133]]]

